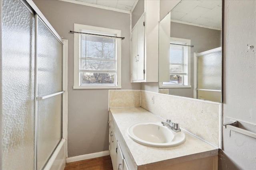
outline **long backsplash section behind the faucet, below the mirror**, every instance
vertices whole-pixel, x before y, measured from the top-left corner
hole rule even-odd
[[[219,147],[221,103],[141,91],[141,107]]]

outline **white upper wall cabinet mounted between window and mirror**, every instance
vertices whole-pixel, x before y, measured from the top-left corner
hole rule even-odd
[[[158,0],[144,1],[132,28],[131,82],[158,82]]]

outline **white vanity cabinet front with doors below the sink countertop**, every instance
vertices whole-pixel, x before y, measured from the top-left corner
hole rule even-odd
[[[109,150],[113,170],[129,170],[111,121],[109,125]]]

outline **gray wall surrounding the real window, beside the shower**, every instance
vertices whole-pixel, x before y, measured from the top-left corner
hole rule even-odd
[[[74,23],[122,30],[122,89],[130,83],[130,14],[57,0],[34,3],[63,39],[68,39],[68,157],[108,150],[108,90],[73,89]]]

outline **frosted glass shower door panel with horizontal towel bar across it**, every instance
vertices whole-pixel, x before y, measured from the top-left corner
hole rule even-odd
[[[62,139],[62,43],[38,16],[37,169],[42,169]]]

